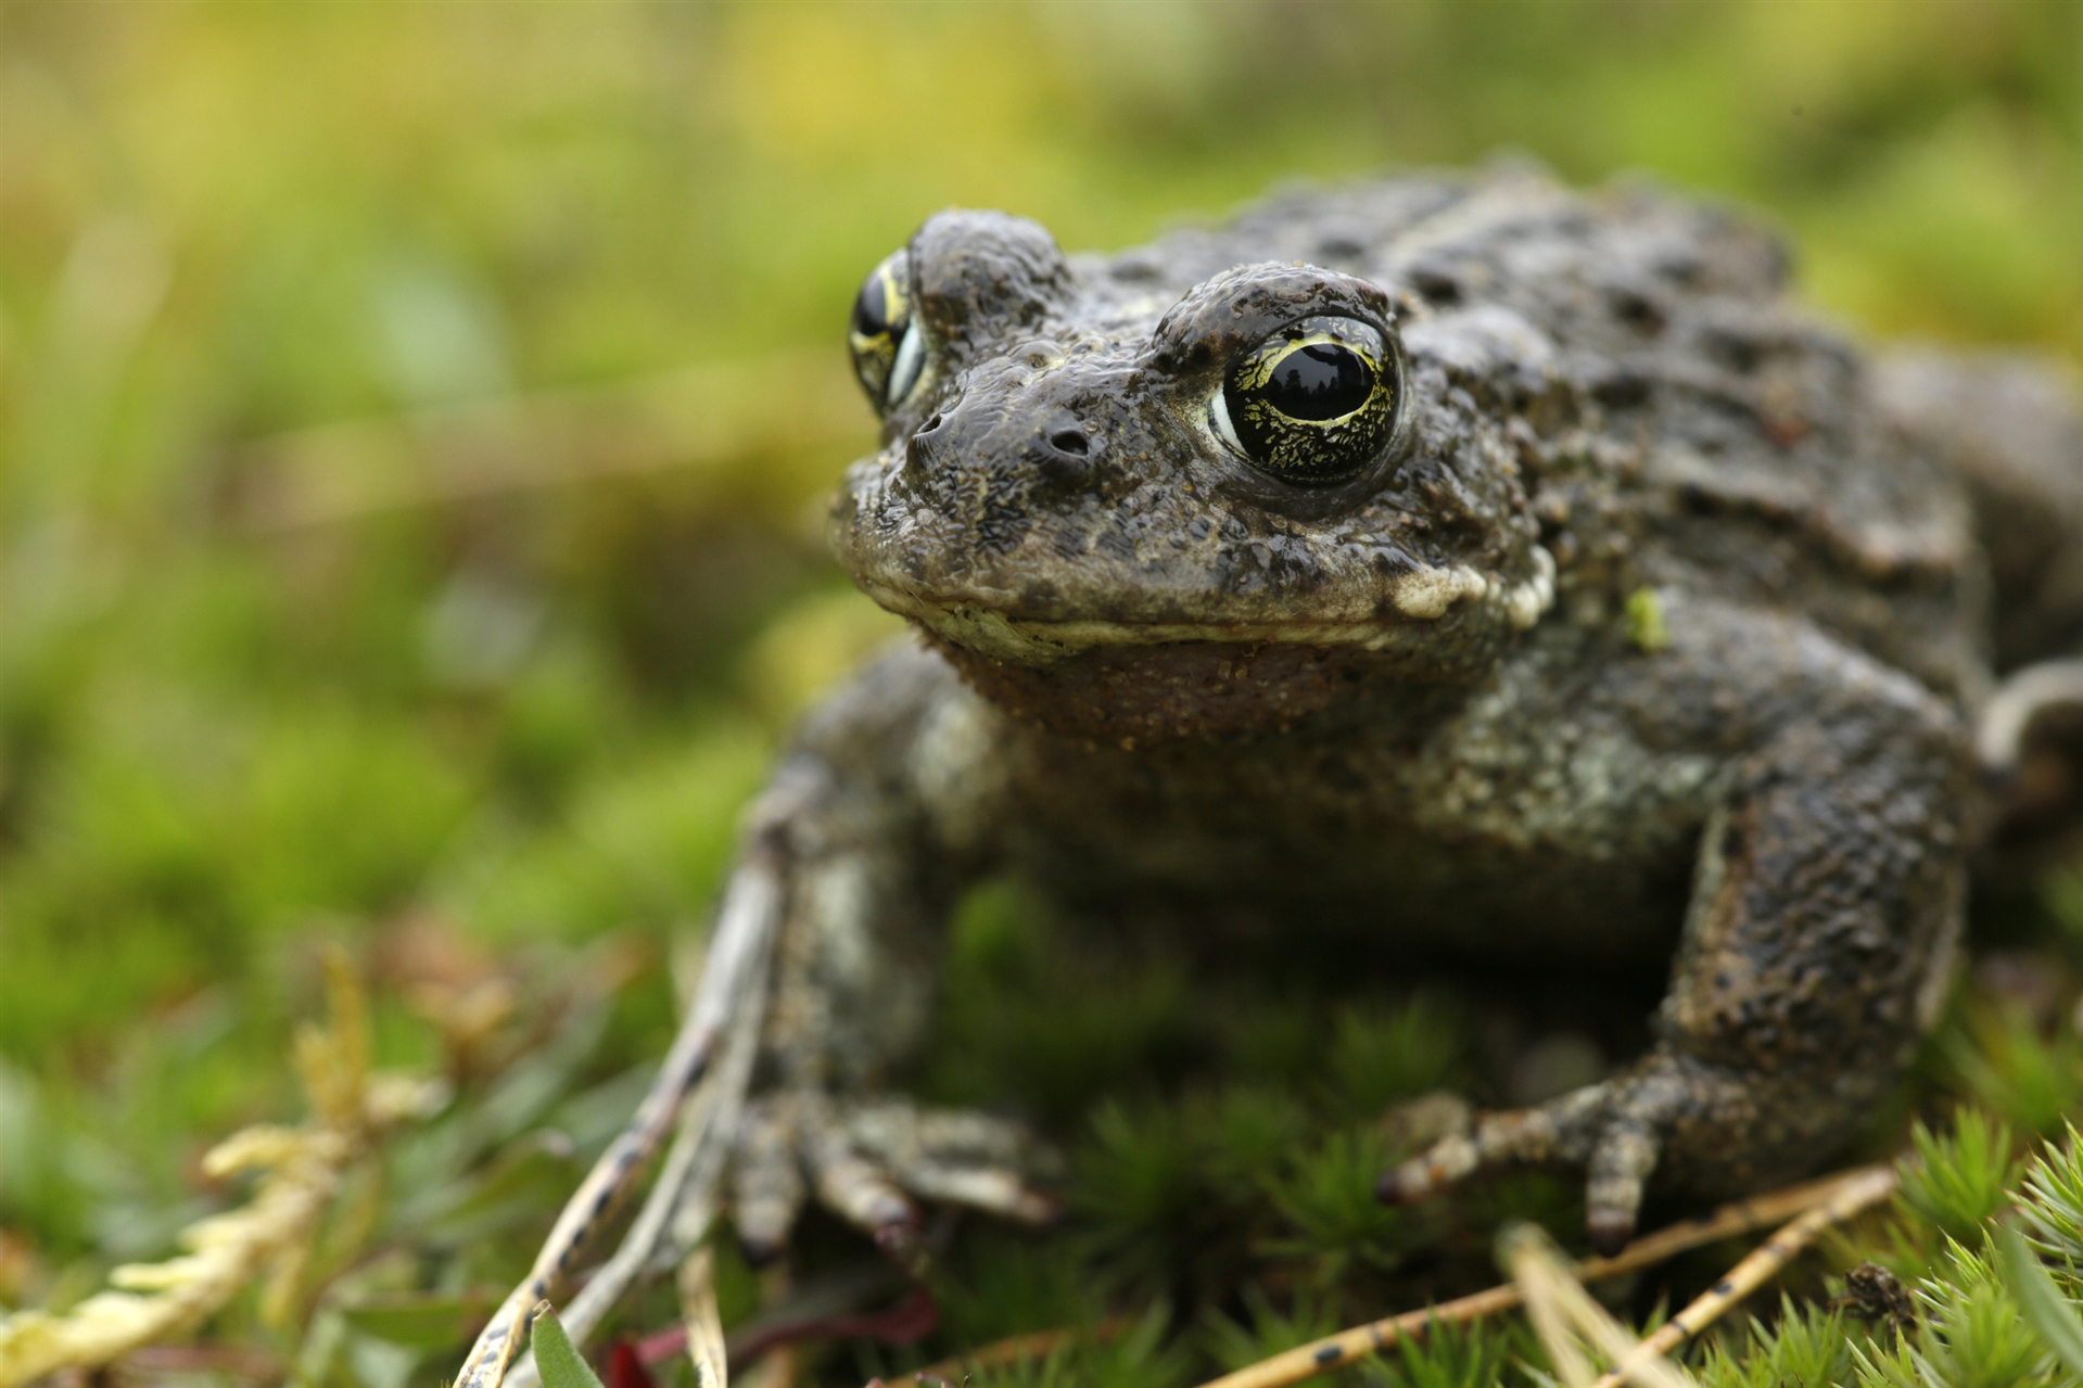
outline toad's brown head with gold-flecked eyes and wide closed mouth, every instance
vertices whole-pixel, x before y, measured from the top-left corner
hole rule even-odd
[[[854,304],[883,448],[848,471],[833,544],[979,690],[1081,736],[1475,679],[1554,565],[1504,421],[1412,350],[1414,313],[1312,265],[1166,281],[944,213]]]

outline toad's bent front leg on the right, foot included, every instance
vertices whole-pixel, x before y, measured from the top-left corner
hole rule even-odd
[[[1748,723],[1750,750],[1700,840],[1656,1048],[1604,1084],[1485,1115],[1387,1173],[1383,1196],[1494,1165],[1581,1163],[1593,1244],[1614,1250],[1652,1171],[1735,1194],[1825,1161],[1931,1025],[1962,919],[1956,717],[1804,623],[1698,617],[1693,648],[1681,638],[1671,654],[1700,679],[1666,667],[1664,715],[1725,711]],[[1712,698],[1714,667],[1748,688]]]

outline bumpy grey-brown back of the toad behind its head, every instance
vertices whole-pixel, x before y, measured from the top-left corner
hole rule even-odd
[[[1571,596],[1677,584],[1802,611],[1973,700],[1989,590],[1973,509],[1929,429],[1789,296],[1754,219],[1539,171],[1298,190],[1219,229],[1079,265],[1164,294],[1246,261],[1373,279],[1412,354],[1508,417],[1541,542]]]

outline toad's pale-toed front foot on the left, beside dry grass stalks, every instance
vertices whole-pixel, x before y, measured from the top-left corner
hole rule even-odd
[[[1044,1223],[1056,1205],[1025,1180],[1052,1155],[1019,1123],[921,1109],[908,1098],[769,1094],[746,1113],[733,1171],[737,1236],[752,1261],[777,1257],[804,1200],[869,1232],[900,1263],[917,1263],[912,1196]]]

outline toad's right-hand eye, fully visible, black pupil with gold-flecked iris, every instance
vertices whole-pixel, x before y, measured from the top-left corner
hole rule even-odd
[[[1235,367],[1212,402],[1214,427],[1281,481],[1344,481],[1381,456],[1396,429],[1396,356],[1358,319],[1302,319]]]

